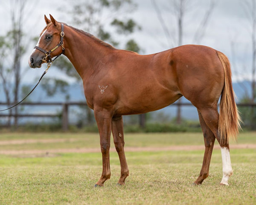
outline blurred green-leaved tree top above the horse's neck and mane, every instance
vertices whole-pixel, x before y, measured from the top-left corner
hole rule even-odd
[[[132,0],[80,0],[76,1],[69,13],[72,14],[72,23],[76,26],[113,46],[118,46],[119,42],[113,39],[110,30],[116,29],[121,35],[129,35],[135,29],[140,29],[133,19],[126,17],[134,9],[136,4]]]

